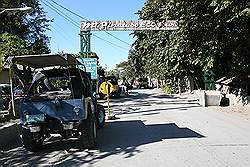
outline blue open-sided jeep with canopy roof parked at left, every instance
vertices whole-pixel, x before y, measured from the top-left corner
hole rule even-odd
[[[19,56],[8,61],[16,84],[12,90],[18,87],[23,92],[15,97],[19,98],[15,109],[26,149],[36,151],[51,134],[78,137],[85,148],[95,146],[105,110],[97,104],[90,73],[78,68],[83,65],[73,55]]]

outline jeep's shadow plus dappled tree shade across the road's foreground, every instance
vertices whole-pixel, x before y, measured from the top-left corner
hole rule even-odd
[[[168,139],[203,138],[204,136],[174,123],[145,125],[143,121],[114,121],[107,123],[98,133],[98,146],[84,150],[78,140],[61,140],[46,143],[37,153],[19,147],[0,154],[0,166],[81,166],[96,162],[111,155],[133,157],[141,152],[139,146],[162,142]],[[54,159],[53,159],[54,157]],[[48,160],[53,159],[50,164]]]

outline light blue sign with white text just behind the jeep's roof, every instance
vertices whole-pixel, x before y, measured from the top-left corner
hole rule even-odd
[[[86,72],[91,73],[91,79],[97,79],[97,59],[80,58],[79,61],[85,66]]]

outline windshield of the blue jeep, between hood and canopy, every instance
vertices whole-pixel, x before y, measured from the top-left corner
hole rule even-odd
[[[51,69],[34,74],[32,84],[27,92],[28,99],[81,99],[86,94],[86,83],[80,69]],[[39,98],[39,99],[40,99]]]

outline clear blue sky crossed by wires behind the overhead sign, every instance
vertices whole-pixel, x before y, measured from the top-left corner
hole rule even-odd
[[[50,31],[47,32],[50,39],[50,48],[52,53],[79,53],[80,52],[80,28],[72,25],[63,17],[58,15],[54,10],[48,7],[51,0],[40,0],[44,11],[47,12],[47,18],[53,19],[50,25]],[[83,16],[90,21],[98,20],[138,20],[138,15],[135,13],[140,10],[146,0],[55,0],[57,3]],[[47,4],[47,6],[45,5]],[[55,4],[53,4],[55,5]],[[81,18],[76,17],[59,6],[56,6],[60,11],[78,23],[80,26]],[[97,53],[99,61],[103,67],[108,70],[115,68],[115,65],[127,60],[128,51],[131,46],[115,39],[103,31],[92,31],[92,34],[97,35],[107,41],[115,43],[122,48],[113,46],[103,40],[91,36],[91,51]],[[132,31],[109,31],[121,40],[132,45],[134,42]]]

